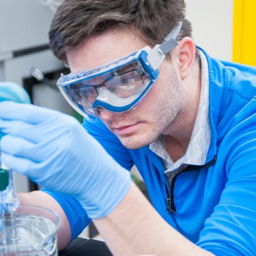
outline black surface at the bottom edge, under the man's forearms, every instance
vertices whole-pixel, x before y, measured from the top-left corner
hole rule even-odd
[[[65,249],[59,251],[59,256],[113,256],[104,242],[84,238],[76,238]]]

